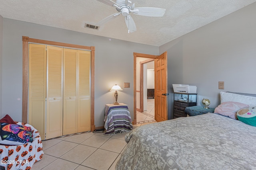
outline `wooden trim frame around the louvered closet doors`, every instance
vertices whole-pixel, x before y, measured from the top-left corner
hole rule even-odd
[[[91,131],[95,130],[94,125],[94,70],[95,70],[95,47],[74,45],[68,43],[59,43],[54,41],[46,41],[41,39],[32,39],[22,36],[22,122],[28,123],[28,43],[39,43],[46,45],[54,45],[60,47],[68,47],[74,49],[83,49],[91,51]]]

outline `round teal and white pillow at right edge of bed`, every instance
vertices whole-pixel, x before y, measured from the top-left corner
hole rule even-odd
[[[240,109],[236,113],[238,120],[256,126],[256,106]]]

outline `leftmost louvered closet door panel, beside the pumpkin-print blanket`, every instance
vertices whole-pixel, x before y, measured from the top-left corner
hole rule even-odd
[[[46,45],[29,44],[28,123],[45,139]]]

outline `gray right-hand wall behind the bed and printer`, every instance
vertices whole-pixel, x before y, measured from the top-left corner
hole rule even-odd
[[[255,9],[253,3],[162,45],[160,53],[168,53],[170,92],[172,84],[196,85],[198,105],[208,98],[211,107],[220,104],[221,91],[256,94]],[[224,81],[224,90],[218,81]]]

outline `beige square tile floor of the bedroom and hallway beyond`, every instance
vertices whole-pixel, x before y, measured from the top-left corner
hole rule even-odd
[[[148,100],[148,110],[137,113],[137,125],[154,121],[154,99]],[[114,170],[126,147],[127,133],[104,135],[85,132],[42,141],[44,155],[31,170]]]

